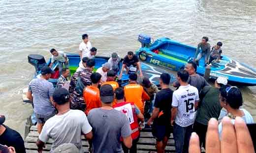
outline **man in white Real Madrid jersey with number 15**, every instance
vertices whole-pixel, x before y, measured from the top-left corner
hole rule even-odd
[[[173,92],[172,96],[171,124],[173,125],[173,138],[176,153],[188,153],[199,95],[197,88],[187,83],[189,73],[186,70],[179,71],[177,79],[181,86]]]

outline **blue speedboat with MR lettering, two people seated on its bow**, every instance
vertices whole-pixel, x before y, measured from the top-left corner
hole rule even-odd
[[[189,60],[193,59],[195,47],[179,43],[169,38],[159,38],[151,43],[151,37],[140,34],[138,37],[141,48],[136,51],[141,61],[155,64],[173,71],[180,70]],[[199,61],[197,74],[204,75],[204,59]],[[210,78],[226,77],[228,82],[235,85],[255,86],[256,69],[240,63],[225,55],[220,62],[211,63]]]

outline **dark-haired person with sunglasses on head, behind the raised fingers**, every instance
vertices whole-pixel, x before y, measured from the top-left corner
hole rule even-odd
[[[234,124],[236,117],[241,117],[246,124],[254,123],[252,115],[245,110],[240,108],[243,105],[243,97],[239,88],[234,86],[221,88],[220,94],[221,107],[227,110],[227,116],[231,118],[232,124]],[[219,133],[222,135],[223,124],[219,124]]]

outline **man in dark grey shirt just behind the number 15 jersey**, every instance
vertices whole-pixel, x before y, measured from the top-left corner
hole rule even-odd
[[[203,89],[205,86],[210,86],[210,84],[205,80],[204,77],[196,74],[196,69],[197,69],[197,66],[193,61],[189,61],[185,66],[185,70],[188,71],[190,75],[188,83],[196,87],[198,92],[200,93],[201,89]],[[180,86],[179,81],[173,82],[173,86],[179,87]]]

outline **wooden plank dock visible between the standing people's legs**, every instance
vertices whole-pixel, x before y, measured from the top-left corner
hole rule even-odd
[[[27,153],[37,153],[37,146],[35,144],[39,134],[37,132],[36,126],[32,126],[30,128],[30,132],[28,136],[25,139],[25,148]],[[43,153],[50,153],[51,146],[52,146],[53,140],[49,140],[45,148],[43,150]],[[88,153],[88,142],[84,139],[84,136],[82,136],[82,144],[83,144],[83,150],[84,153]],[[140,133],[140,139],[137,143],[137,153],[156,153],[156,139],[153,137],[150,129],[145,129]],[[165,148],[165,153],[175,153],[175,147],[174,147],[174,140],[173,135],[171,134],[167,146]]]

